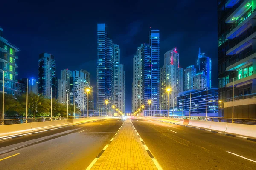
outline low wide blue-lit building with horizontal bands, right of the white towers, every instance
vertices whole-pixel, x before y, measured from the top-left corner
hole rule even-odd
[[[191,107],[190,107],[191,93]],[[177,97],[178,109],[183,110],[184,116],[189,116],[189,108],[191,116],[206,116],[206,101],[207,102],[207,117],[219,117],[218,113],[218,88],[208,89],[208,97],[206,90],[189,90],[184,91]],[[206,100],[207,98],[207,100]],[[182,109],[183,108],[183,109]]]

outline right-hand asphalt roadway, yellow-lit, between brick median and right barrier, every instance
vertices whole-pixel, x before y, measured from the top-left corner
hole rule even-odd
[[[256,169],[256,142],[145,118],[132,122],[163,170]]]

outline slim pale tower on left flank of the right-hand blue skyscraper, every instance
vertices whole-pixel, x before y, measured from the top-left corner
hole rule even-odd
[[[132,82],[132,112],[142,106],[142,47],[137,48],[133,58],[133,82]]]

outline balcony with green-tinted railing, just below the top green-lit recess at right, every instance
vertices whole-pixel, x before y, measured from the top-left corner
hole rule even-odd
[[[226,39],[233,39],[238,37],[244,31],[252,26],[253,19],[256,19],[256,9],[247,12],[239,20],[236,20],[229,28],[229,32],[226,35]]]

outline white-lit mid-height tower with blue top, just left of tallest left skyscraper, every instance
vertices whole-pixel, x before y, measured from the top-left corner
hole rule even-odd
[[[85,89],[89,88],[89,84],[86,81],[86,74],[81,71],[73,71],[73,79],[75,105],[80,109],[80,111],[87,111],[87,94]]]

